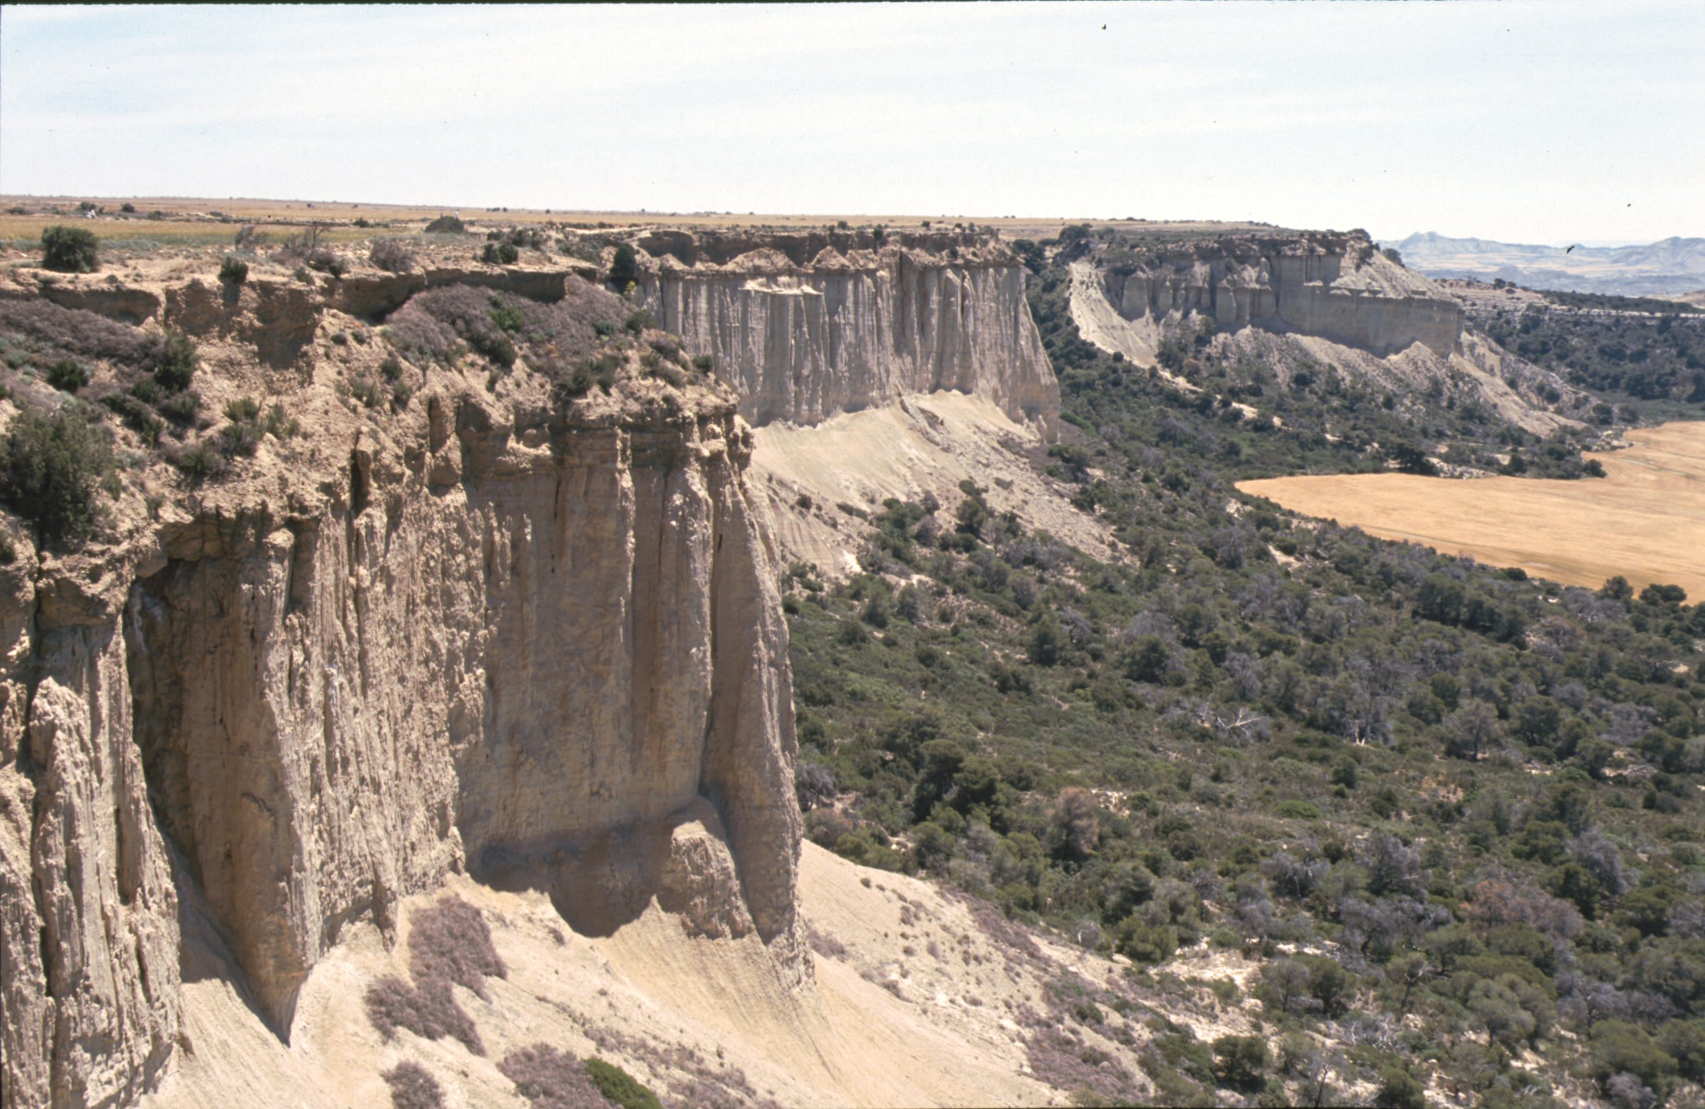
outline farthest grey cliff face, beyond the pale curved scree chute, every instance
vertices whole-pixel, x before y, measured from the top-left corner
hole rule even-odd
[[[1461,307],[1424,276],[1349,235],[1234,237],[1108,259],[1125,319],[1199,312],[1221,329],[1299,331],[1374,353],[1456,348]]]

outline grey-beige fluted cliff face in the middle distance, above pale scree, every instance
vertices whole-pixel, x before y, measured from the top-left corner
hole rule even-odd
[[[716,358],[754,425],[813,425],[905,392],[957,389],[1052,435],[1059,386],[1025,304],[1025,268],[974,235],[660,232],[643,300]]]

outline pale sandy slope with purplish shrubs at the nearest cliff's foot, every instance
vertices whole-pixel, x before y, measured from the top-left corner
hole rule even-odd
[[[387,1041],[363,1012],[372,983],[407,973],[406,921],[447,894],[483,911],[506,966],[505,978],[486,981],[488,998],[457,988],[484,1054],[407,1031]],[[1055,1000],[1062,981],[1127,993],[1117,962],[1009,925],[939,885],[813,845],[805,846],[800,894],[817,949],[815,984],[789,993],[752,937],[689,938],[656,906],[609,937],[583,937],[544,894],[459,879],[407,899],[389,945],[372,925],[351,928],[302,988],[288,1044],[247,1005],[203,930],[186,955],[186,1049],[143,1104],[384,1107],[390,1090],[382,1071],[413,1060],[438,1080],[452,1109],[523,1109],[527,1100],[498,1063],[535,1042],[619,1061],[687,1104],[1071,1104],[1032,1066],[1049,1051],[1038,1056],[1030,1044],[1062,1034],[1057,1042],[1072,1051],[1098,1049],[1115,1066],[1127,1065],[1130,1089],[1149,1092],[1130,1053],[1132,1031],[1147,1036],[1146,1007],[1108,1010],[1091,1029],[1067,1020]],[[1202,984],[1241,984],[1255,964],[1204,947],[1175,969]],[[1207,1039],[1250,1031],[1241,1008],[1221,1008],[1205,988],[1188,993],[1199,996],[1175,1000],[1171,1020]]]

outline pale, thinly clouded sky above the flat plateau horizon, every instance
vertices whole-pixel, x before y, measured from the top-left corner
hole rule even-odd
[[[1705,3],[3,7],[0,193],[1705,235]]]

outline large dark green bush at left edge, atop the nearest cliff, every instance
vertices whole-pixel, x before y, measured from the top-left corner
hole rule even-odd
[[[41,546],[65,549],[94,529],[95,490],[111,469],[106,433],[80,409],[24,409],[0,440],[0,500],[36,527]]]

